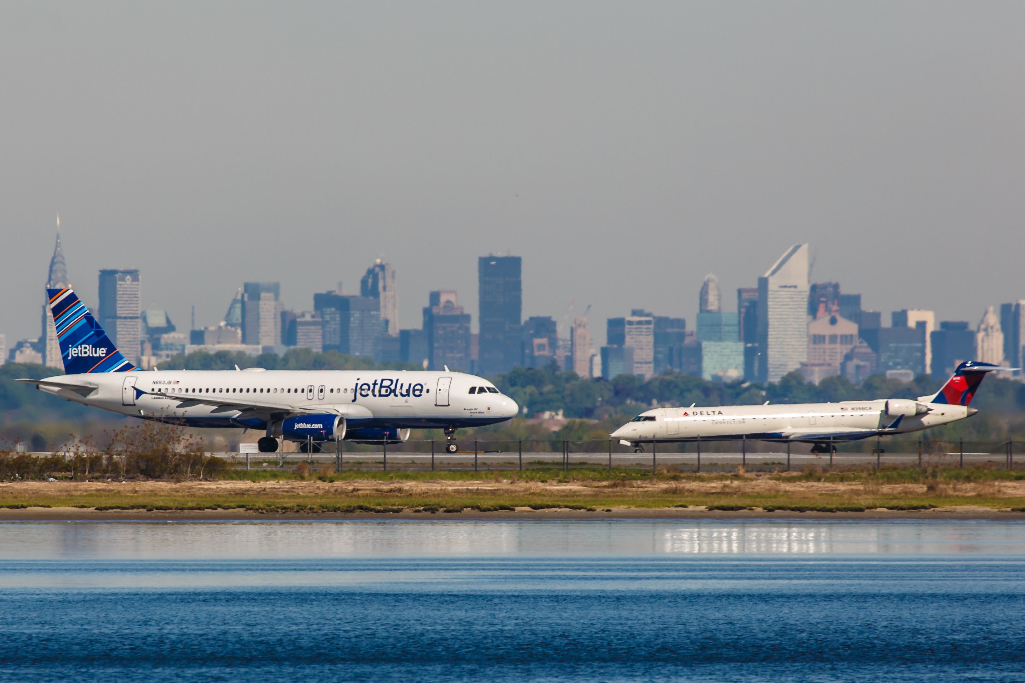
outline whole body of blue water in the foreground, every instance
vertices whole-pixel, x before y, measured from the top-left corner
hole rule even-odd
[[[1016,522],[0,523],[0,681],[1022,681],[1023,570]]]

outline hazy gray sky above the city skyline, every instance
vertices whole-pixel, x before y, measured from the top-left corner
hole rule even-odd
[[[60,211],[72,284],[142,271],[179,330],[243,281],[286,306],[376,256],[402,327],[477,313],[693,324],[794,242],[866,308],[1025,298],[1025,4],[6,2],[0,332],[39,334]],[[888,314],[885,313],[885,319]]]

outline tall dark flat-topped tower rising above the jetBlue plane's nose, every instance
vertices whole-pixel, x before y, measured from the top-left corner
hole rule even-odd
[[[519,256],[482,256],[480,281],[480,374],[507,373],[520,362],[523,317],[522,259]]]

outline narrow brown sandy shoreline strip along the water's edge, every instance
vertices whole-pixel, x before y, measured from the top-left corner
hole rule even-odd
[[[725,520],[725,519],[833,519],[833,520],[992,520],[992,521],[1025,521],[1025,512],[1011,512],[988,508],[958,506],[955,508],[936,508],[933,510],[867,510],[865,512],[793,512],[777,510],[706,510],[703,506],[691,508],[622,508],[611,512],[584,512],[580,510],[555,509],[531,510],[529,508],[516,511],[479,512],[463,510],[462,512],[412,512],[373,513],[373,512],[316,512],[316,513],[272,513],[262,514],[245,510],[93,510],[91,508],[24,508],[0,509],[0,522],[40,522],[40,521],[387,521],[387,520],[630,520],[630,519],[664,519],[664,520]]]

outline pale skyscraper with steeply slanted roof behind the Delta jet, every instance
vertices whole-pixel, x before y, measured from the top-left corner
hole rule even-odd
[[[777,382],[808,359],[808,245],[758,278],[758,379]]]

